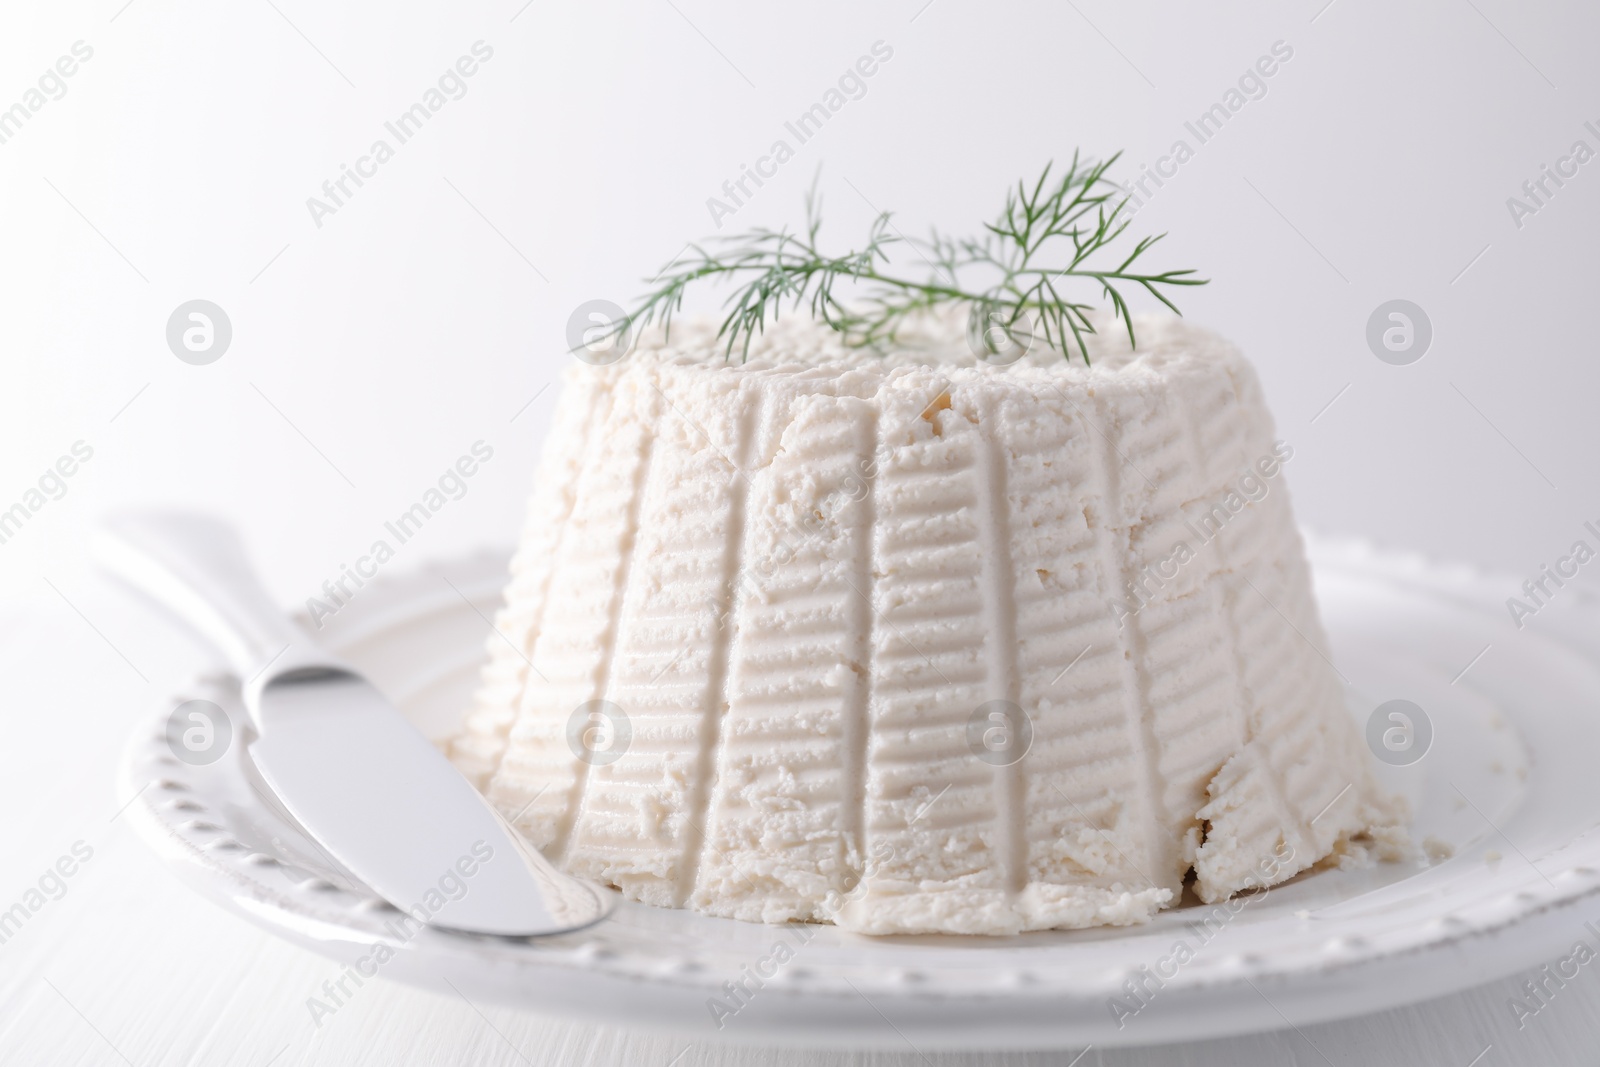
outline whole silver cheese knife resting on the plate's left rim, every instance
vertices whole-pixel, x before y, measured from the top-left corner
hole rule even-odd
[[[595,923],[614,894],[555,870],[355,669],[286,619],[238,536],[195,515],[123,515],[96,555],[227,656],[262,781],[307,835],[418,921],[539,936]]]

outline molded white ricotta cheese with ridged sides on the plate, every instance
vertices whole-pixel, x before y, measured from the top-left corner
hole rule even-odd
[[[573,366],[458,766],[629,899],[874,934],[1139,923],[1389,832],[1238,352],[920,336]]]

